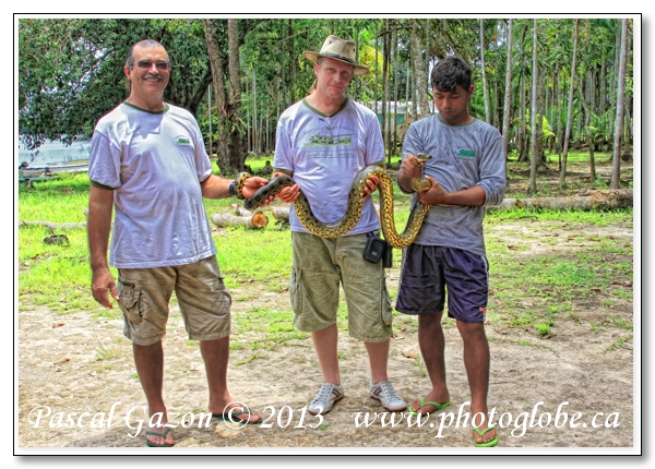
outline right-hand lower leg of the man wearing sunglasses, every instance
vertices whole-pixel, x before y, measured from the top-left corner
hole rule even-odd
[[[224,410],[227,412],[229,408],[241,407],[240,404],[236,404],[230,406],[228,409],[225,408],[228,404],[235,401],[227,389],[229,336],[214,340],[201,340],[200,352],[202,354],[202,359],[204,360],[207,374],[207,384],[210,387],[210,412],[221,416]],[[260,419],[260,414],[254,409],[250,409],[250,412],[252,413],[248,417],[240,413],[235,417],[238,417],[240,420],[257,422]]]

